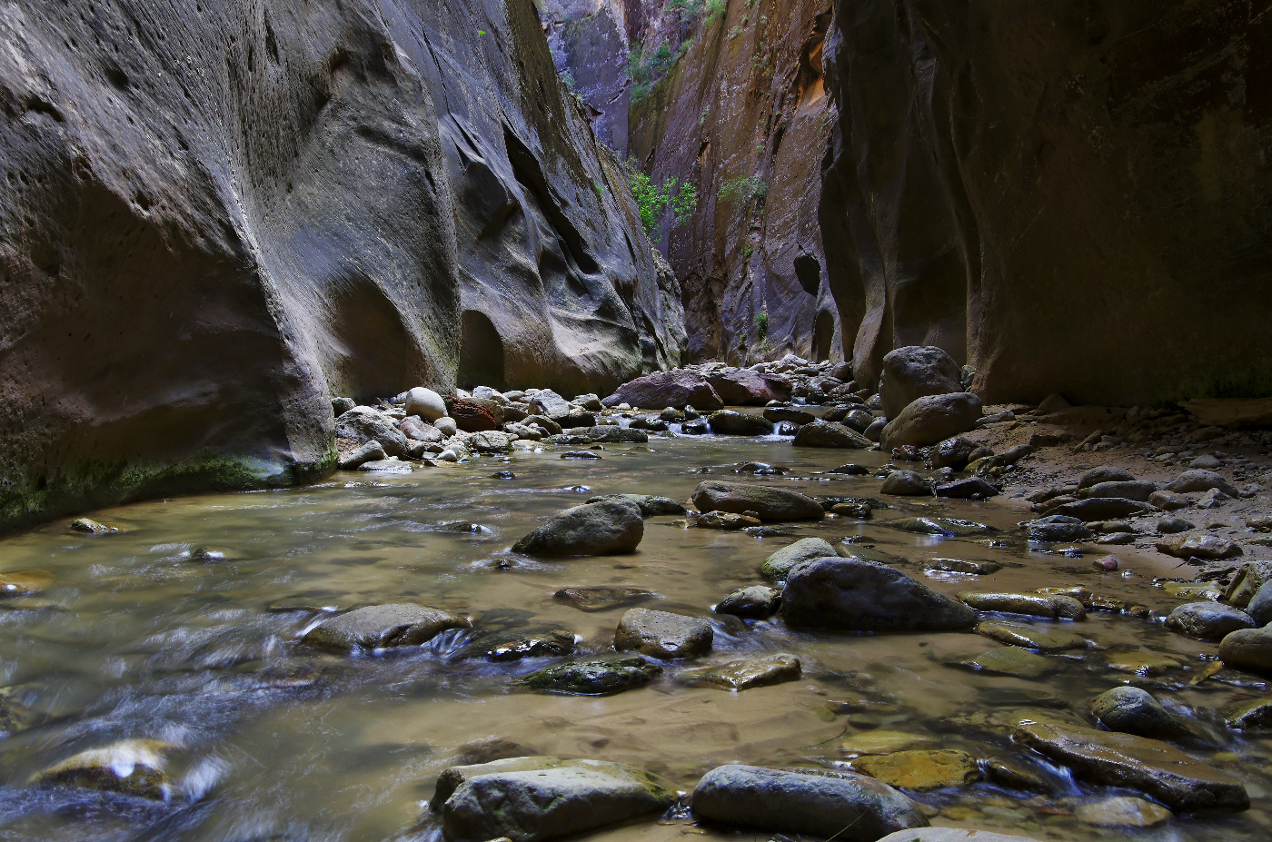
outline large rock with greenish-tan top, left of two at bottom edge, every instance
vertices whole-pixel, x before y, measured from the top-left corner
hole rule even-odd
[[[644,770],[603,761],[502,761],[469,767],[441,805],[446,842],[544,842],[661,813],[675,791]],[[502,763],[502,766],[501,766]],[[439,782],[440,786],[440,782]]]

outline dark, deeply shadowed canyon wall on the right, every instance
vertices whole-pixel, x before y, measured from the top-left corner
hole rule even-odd
[[[859,382],[1272,394],[1272,4],[838,0],[823,242]]]

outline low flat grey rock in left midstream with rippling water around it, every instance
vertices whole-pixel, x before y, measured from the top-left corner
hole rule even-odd
[[[301,642],[337,652],[418,646],[448,628],[469,626],[463,617],[413,603],[366,605],[324,619]]]

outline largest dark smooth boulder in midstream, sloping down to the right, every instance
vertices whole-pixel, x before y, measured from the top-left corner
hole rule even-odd
[[[861,558],[813,558],[791,569],[782,618],[803,628],[962,631],[979,614],[899,570]]]

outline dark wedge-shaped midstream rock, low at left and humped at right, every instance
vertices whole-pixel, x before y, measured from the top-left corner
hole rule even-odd
[[[605,500],[566,509],[515,544],[529,556],[617,556],[635,552],[645,537],[641,507]]]

